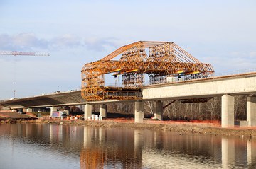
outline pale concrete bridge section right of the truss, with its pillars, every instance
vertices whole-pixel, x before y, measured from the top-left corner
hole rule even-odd
[[[156,114],[161,118],[161,100],[182,100],[221,96],[221,124],[223,127],[234,125],[234,95],[247,95],[247,126],[256,126],[256,73],[196,79],[176,83],[146,86],[142,91],[144,100],[156,102]],[[137,103],[142,107],[143,103]],[[142,111],[139,110],[139,111]]]

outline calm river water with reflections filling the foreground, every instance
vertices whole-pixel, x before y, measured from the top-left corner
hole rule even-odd
[[[0,124],[0,168],[256,168],[256,141],[48,124]]]

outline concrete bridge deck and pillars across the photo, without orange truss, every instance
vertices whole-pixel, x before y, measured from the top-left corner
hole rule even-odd
[[[190,81],[177,81],[142,87],[142,99],[125,100],[135,102],[135,122],[143,122],[144,100],[154,100],[156,117],[161,120],[163,103],[161,100],[184,100],[196,98],[212,98],[221,96],[222,100],[222,126],[234,126],[234,96],[247,96],[247,121],[245,125],[256,126],[256,72],[237,74],[232,76],[219,76],[201,78]],[[81,91],[53,93],[50,95],[38,95],[30,98],[4,100],[0,105],[4,107],[28,108],[54,107],[65,105],[85,105],[85,119],[92,114],[93,104],[102,104],[100,111],[107,112],[104,103],[114,103],[124,100],[99,100],[87,101],[82,98]]]

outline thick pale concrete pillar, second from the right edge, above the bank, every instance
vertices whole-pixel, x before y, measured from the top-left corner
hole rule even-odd
[[[221,97],[221,127],[234,127],[235,99],[231,95]]]

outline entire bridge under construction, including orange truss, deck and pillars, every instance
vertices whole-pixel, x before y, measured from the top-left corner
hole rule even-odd
[[[112,60],[114,57],[119,60]],[[28,112],[32,107],[51,107],[53,112],[57,106],[85,105],[85,120],[88,120],[94,104],[101,104],[100,115],[107,117],[105,103],[129,100],[134,101],[134,122],[144,122],[144,101],[154,101],[154,117],[162,120],[164,107],[168,105],[161,100],[190,103],[218,96],[221,125],[233,127],[234,96],[245,95],[247,120],[240,121],[240,125],[256,126],[256,72],[214,76],[210,64],[199,62],[174,42],[135,42],[85,64],[81,73],[81,91],[5,100],[0,105],[27,108]],[[122,86],[105,85],[106,74],[122,76]],[[175,81],[169,81],[170,78]]]

